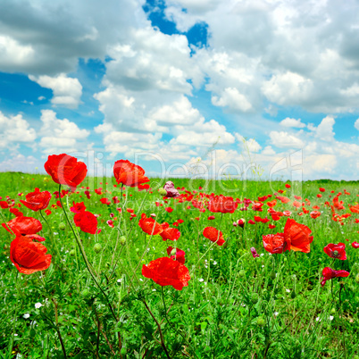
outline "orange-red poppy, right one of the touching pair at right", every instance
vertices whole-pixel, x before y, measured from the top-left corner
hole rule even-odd
[[[293,251],[309,253],[311,251],[310,244],[313,242],[311,234],[312,230],[292,219],[288,219],[284,226],[284,236]]]

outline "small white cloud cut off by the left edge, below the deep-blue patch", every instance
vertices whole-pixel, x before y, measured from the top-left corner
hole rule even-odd
[[[1,149],[18,144],[30,146],[35,138],[37,138],[35,129],[29,127],[29,122],[24,120],[21,114],[6,117],[4,113],[0,111]]]

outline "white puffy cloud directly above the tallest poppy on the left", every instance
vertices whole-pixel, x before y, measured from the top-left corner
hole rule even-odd
[[[59,120],[52,110],[41,112],[42,127],[40,146],[45,154],[78,151],[78,140],[88,138],[87,129],[79,129],[78,125],[67,119]]]

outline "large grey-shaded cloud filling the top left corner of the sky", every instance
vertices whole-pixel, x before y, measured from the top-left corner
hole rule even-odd
[[[101,58],[148,24],[142,0],[4,0],[0,2],[0,71],[54,76],[79,57]],[[26,14],[26,16],[24,15]]]

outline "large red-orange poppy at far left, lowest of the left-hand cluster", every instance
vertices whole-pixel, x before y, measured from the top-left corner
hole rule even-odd
[[[51,255],[46,255],[47,248],[33,242],[27,236],[18,236],[10,246],[10,260],[24,274],[45,271],[51,264]]]

